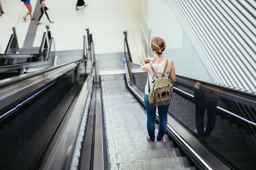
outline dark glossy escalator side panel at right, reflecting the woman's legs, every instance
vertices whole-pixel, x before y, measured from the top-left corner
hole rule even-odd
[[[255,123],[253,125],[219,108],[235,111],[239,113],[238,116],[250,117],[249,121],[254,122],[255,117],[252,118],[252,115],[255,108],[238,103],[236,105],[220,97],[220,93],[204,88],[194,88],[193,91],[194,99],[188,99],[182,93],[174,93],[169,107],[170,114],[235,169],[253,169],[256,166]]]

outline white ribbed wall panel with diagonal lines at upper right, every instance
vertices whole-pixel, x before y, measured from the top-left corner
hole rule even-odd
[[[168,3],[213,82],[256,92],[256,2]]]

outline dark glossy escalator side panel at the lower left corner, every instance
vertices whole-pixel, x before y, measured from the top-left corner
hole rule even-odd
[[[37,165],[66,113],[69,103],[59,104],[73,85],[67,73],[12,106],[16,112],[0,121],[1,169],[27,170]]]

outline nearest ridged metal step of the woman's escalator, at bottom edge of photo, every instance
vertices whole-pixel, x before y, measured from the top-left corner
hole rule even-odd
[[[108,170],[183,170],[184,168],[190,168],[188,159],[186,157],[175,157],[147,161],[111,163],[109,164]]]

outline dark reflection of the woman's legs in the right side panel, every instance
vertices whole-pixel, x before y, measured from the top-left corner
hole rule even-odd
[[[199,137],[209,137],[211,131],[215,126],[216,121],[216,108],[218,105],[218,97],[216,99],[209,99],[205,97],[202,90],[195,90],[194,100],[195,100],[195,126],[198,130]],[[207,126],[204,132],[204,111],[207,109]]]

